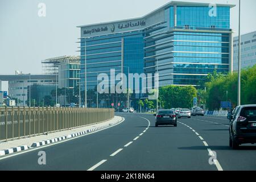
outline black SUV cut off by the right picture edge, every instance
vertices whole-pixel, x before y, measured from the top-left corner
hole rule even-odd
[[[229,146],[233,149],[243,143],[256,143],[256,105],[238,106],[236,113],[229,115]]]

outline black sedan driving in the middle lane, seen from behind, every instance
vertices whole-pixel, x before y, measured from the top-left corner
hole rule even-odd
[[[155,127],[159,125],[174,125],[177,127],[177,117],[173,110],[159,110],[155,115]]]

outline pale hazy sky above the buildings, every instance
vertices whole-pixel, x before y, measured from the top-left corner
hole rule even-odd
[[[183,0],[186,1],[186,0]],[[187,0],[230,3],[238,0]],[[46,17],[38,4],[46,4]],[[137,18],[168,0],[0,0],[0,75],[42,73],[40,61],[49,57],[79,55],[76,26]],[[242,34],[256,30],[256,1],[242,1]],[[231,27],[238,31],[238,7],[231,10]]]

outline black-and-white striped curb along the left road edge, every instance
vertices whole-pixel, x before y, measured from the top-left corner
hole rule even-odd
[[[85,134],[88,134],[88,133],[93,133],[94,131],[106,129],[110,126],[117,125],[117,123],[122,122],[122,121],[123,121],[123,118],[121,118],[121,120],[118,120],[116,122],[109,123],[108,125],[103,125],[103,126],[100,126],[100,127],[94,127],[92,129],[88,129],[88,130],[85,130],[85,131],[80,131],[78,133],[69,134],[69,135],[63,136],[63,137],[57,137],[57,138],[53,138],[53,139],[42,140],[40,142],[34,142],[34,143],[32,143],[31,147],[29,147],[29,146],[19,146],[19,147],[12,147],[12,148],[9,148],[9,149],[6,149],[6,150],[0,150],[0,156],[7,155],[7,154],[13,154],[14,152],[28,150],[30,148],[45,146],[45,145],[50,144],[50,143],[56,143],[56,142],[59,142],[61,140],[75,138],[75,137],[85,135]]]

